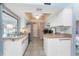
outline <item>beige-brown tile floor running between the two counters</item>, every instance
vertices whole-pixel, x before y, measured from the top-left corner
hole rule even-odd
[[[28,48],[25,51],[24,56],[45,56],[43,51],[43,40],[39,38],[33,38]]]

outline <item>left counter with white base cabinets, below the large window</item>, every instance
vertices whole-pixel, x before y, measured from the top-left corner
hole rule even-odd
[[[28,34],[18,37],[3,38],[4,56],[22,56],[28,46]]]

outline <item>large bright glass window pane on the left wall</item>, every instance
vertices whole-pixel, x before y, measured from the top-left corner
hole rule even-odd
[[[3,37],[10,37],[16,35],[17,20],[6,13],[3,13]]]

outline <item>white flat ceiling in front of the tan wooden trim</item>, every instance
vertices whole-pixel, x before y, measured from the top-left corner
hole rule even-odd
[[[30,12],[33,15],[39,13],[50,13],[51,15],[57,15],[59,12],[62,11],[64,7],[69,4],[60,4],[54,3],[51,5],[44,5],[44,4],[26,4],[26,3],[5,3],[5,5],[11,9],[14,13],[22,18],[26,18],[25,13]]]

